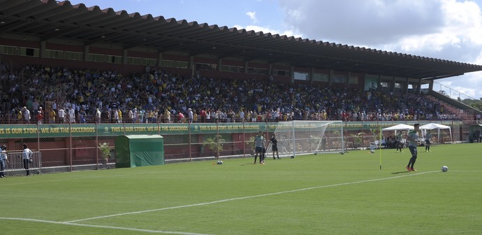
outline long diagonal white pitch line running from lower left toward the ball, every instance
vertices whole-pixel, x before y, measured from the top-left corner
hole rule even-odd
[[[298,189],[298,190],[272,192],[272,193],[268,193],[268,194],[258,194],[258,195],[246,196],[246,197],[235,197],[235,198],[232,198],[232,199],[222,199],[222,200],[218,200],[218,201],[209,201],[209,202],[203,202],[203,203],[199,203],[199,204],[189,204],[189,205],[183,205],[183,206],[172,206],[172,207],[166,207],[166,208],[157,208],[157,209],[146,210],[146,211],[133,211],[133,212],[127,212],[127,213],[114,214],[114,215],[103,215],[103,216],[98,216],[98,217],[85,218],[85,219],[81,219],[81,220],[71,220],[71,221],[67,221],[66,223],[82,222],[82,221],[86,221],[86,220],[97,220],[97,219],[111,218],[111,217],[122,216],[122,215],[134,215],[134,214],[154,212],[154,211],[166,211],[166,210],[171,210],[171,209],[187,208],[187,207],[192,207],[192,206],[205,206],[205,205],[210,205],[210,204],[218,204],[218,203],[226,202],[226,201],[235,201],[235,200],[241,200],[241,199],[252,199],[252,198],[256,198],[256,197],[267,197],[267,196],[272,196],[272,195],[277,195],[277,194],[286,194],[286,193],[300,192],[300,191],[305,191],[305,190],[316,190],[316,189],[321,189],[321,188],[324,188],[324,187],[337,187],[337,186],[343,186],[343,185],[369,183],[369,182],[374,182],[374,181],[379,181],[379,180],[390,180],[390,179],[394,179],[394,178],[402,178],[402,177],[407,177],[407,176],[418,176],[418,175],[421,175],[421,174],[424,174],[424,173],[434,173],[434,172],[439,172],[439,171],[427,171],[427,172],[413,173],[413,174],[403,175],[403,176],[393,176],[393,177],[388,177],[388,178],[378,178],[378,179],[372,179],[372,180],[360,180],[360,181],[349,182],[349,183],[339,183],[339,184],[335,184],[335,185],[321,185],[321,186],[315,186],[315,187],[305,187],[305,188]]]

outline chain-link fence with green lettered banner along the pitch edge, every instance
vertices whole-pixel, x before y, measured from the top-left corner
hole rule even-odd
[[[395,122],[343,122],[347,150],[369,148],[379,144],[379,131]],[[410,124],[410,123],[406,123]],[[440,137],[432,132],[432,143],[474,142],[473,133],[482,128],[477,121],[447,121],[451,127]],[[117,136],[147,134],[163,136],[164,159],[168,162],[191,162],[230,157],[251,157],[254,136],[258,131],[272,136],[276,122],[218,123],[121,123],[121,124],[11,124],[0,125],[0,144],[9,155],[20,154],[26,144],[41,155],[36,166],[40,172],[64,172],[115,167]],[[387,148],[395,133],[382,131]],[[472,140],[472,141],[469,141]],[[452,142],[453,141],[453,142]],[[15,161],[13,161],[15,162]],[[13,164],[12,162],[12,164]],[[22,174],[18,166],[7,164],[8,174]],[[16,163],[18,164],[18,163]]]

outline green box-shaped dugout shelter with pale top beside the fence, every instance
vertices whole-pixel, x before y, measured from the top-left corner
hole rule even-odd
[[[159,135],[130,135],[115,138],[115,167],[164,164],[164,141]]]

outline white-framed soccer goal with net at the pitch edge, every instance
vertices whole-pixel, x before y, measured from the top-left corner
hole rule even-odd
[[[275,134],[280,157],[345,151],[342,121],[278,122]],[[272,155],[271,142],[266,155]]]

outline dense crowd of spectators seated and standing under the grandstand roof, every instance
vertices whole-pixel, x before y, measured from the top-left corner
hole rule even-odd
[[[279,120],[457,120],[422,95],[272,79],[179,76],[162,69],[116,71],[0,66],[2,122],[271,122]]]

